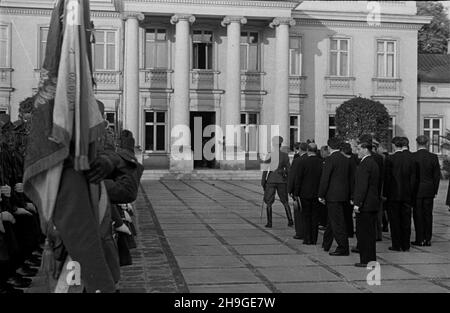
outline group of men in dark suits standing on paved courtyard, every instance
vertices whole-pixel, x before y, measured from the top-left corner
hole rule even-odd
[[[321,157],[314,142],[297,143],[290,167],[287,154],[280,152],[278,176],[270,169],[263,173],[264,199],[270,207],[268,225],[272,226],[275,190],[272,186],[267,188],[270,186],[267,182],[276,176],[277,179],[282,177],[277,180],[276,190],[288,219],[287,194],[294,199],[294,239],[303,239],[303,244],[317,244],[320,206],[326,205],[328,218],[322,248],[329,252],[336,240],[337,248],[330,255],[349,255],[348,238],[354,234],[355,219],[357,246],[351,251],[360,254],[356,266],[365,267],[376,261],[376,241],[382,240],[382,231],[388,231],[388,220],[392,238],[390,250],[409,251],[411,244],[430,246],[433,199],[439,188],[440,165],[437,156],[427,150],[428,138],[419,136],[416,141],[418,151],[412,153],[407,138],[395,137],[392,139],[394,152],[383,154],[379,153],[379,144],[371,135],[361,136],[353,149],[348,143],[330,138],[330,153],[326,158]],[[289,172],[287,177],[280,174],[286,171]],[[267,212],[269,214],[269,209]],[[410,242],[412,216],[416,238]]]

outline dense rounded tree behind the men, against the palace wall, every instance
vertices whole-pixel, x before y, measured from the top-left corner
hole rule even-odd
[[[337,136],[343,140],[355,140],[363,134],[371,134],[382,143],[389,138],[389,114],[378,101],[353,98],[336,109]]]

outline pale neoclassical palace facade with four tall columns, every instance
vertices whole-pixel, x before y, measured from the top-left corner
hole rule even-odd
[[[97,97],[147,168],[252,168],[259,125],[278,125],[287,147],[326,144],[336,107],[355,96],[388,108],[392,135],[422,131],[417,32],[430,19],[414,1],[90,2]],[[36,91],[53,4],[0,2],[0,111],[13,118]],[[172,158],[174,125],[192,130],[188,147],[208,140],[194,138],[196,121],[239,125],[244,160]]]

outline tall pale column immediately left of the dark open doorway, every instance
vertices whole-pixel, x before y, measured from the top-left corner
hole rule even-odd
[[[192,170],[194,164],[189,132],[189,28],[195,16],[176,14],[170,22],[176,25],[170,168],[186,171]]]

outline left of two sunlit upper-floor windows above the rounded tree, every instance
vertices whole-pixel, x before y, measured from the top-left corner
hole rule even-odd
[[[349,76],[349,39],[331,39],[330,45],[330,75]]]

